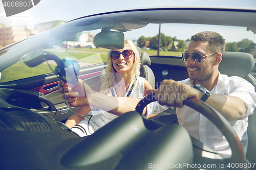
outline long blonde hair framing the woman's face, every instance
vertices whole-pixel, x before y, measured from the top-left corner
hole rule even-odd
[[[140,52],[138,51],[138,49],[137,49],[136,45],[133,43],[133,41],[130,39],[125,39],[124,44],[126,44],[127,47],[129,47],[133,51],[134,63],[131,68],[131,80],[134,80],[134,86],[135,86],[136,80],[137,80],[138,76],[140,75],[140,63],[141,63]],[[110,94],[111,89],[116,84],[116,81],[115,81],[116,74],[114,74],[116,72],[116,70],[113,67],[112,58],[110,56],[110,52],[112,52],[112,51],[113,51],[112,49],[109,50],[108,54],[105,57],[105,60],[106,60],[106,63],[108,63],[108,66],[106,66],[106,68],[102,72],[102,76],[100,77],[100,80],[102,82],[100,91],[103,94]]]

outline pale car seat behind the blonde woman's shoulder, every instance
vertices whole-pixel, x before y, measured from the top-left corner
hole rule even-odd
[[[145,78],[153,87],[153,89],[155,89],[155,76],[152,69],[150,68],[150,56],[148,56],[148,54],[146,54],[145,52],[140,52],[140,60],[140,77]]]

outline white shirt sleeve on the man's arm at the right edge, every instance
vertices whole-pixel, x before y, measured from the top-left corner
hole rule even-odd
[[[246,112],[243,118],[246,118],[249,114],[253,114],[253,110],[256,107],[254,87],[246,80],[234,76],[229,81],[229,87],[231,91],[228,95],[241,99],[246,106]]]

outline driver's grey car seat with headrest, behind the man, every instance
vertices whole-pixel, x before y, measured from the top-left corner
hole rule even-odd
[[[256,78],[250,73],[254,67],[254,59],[249,53],[224,52],[222,61],[219,64],[221,74],[228,76],[239,76],[250,82],[254,88]],[[256,162],[256,109],[248,116],[248,149],[246,158],[250,162]]]

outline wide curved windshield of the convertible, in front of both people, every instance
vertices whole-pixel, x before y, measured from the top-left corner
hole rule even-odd
[[[193,20],[191,19],[193,13],[189,17],[186,15],[186,11],[181,14],[183,14],[183,18],[190,19],[189,22],[191,23],[182,23],[186,19],[182,20],[182,16],[175,15],[174,11],[159,12],[159,16],[149,12],[113,13],[105,18],[101,15],[84,17],[2,48],[0,51],[0,71],[2,74],[0,83],[53,72],[52,70],[57,65],[53,60],[49,60],[48,63],[42,62],[34,67],[29,67],[21,60],[21,58],[26,59],[28,54],[36,50],[42,50],[42,53],[51,53],[59,59],[79,61],[81,67],[106,62],[104,58],[108,49],[99,48],[93,44],[95,35],[101,32],[102,28],[123,32],[124,38],[132,39],[139,50],[148,55],[181,56],[182,52],[186,50],[190,36],[206,30],[216,31],[226,38],[226,51],[239,51],[256,42],[256,36],[247,27],[228,26],[247,24],[242,22],[238,24],[234,22],[236,19],[232,21],[233,18],[230,16],[228,16],[227,22],[222,23],[227,26],[218,26],[203,24],[213,21],[202,20],[202,18]],[[165,14],[166,12],[169,15]],[[123,15],[127,16],[124,17]],[[202,17],[201,13],[194,15],[195,17]],[[159,23],[161,23],[161,28]],[[160,53],[158,52],[159,30],[161,31]],[[30,55],[30,59],[36,57],[34,53]]]

